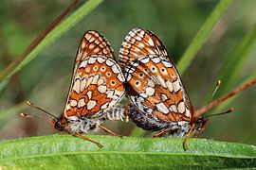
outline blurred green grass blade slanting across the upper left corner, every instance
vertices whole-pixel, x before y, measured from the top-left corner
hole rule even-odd
[[[17,62],[17,64],[12,64],[11,72],[6,73],[3,71],[0,73],[0,91],[5,87],[7,81],[9,81],[9,77],[13,76],[15,73],[20,71],[27,63],[29,63],[32,59],[34,59],[43,49],[46,48],[49,44],[56,41],[60,38],[66,31],[68,31],[71,27],[76,26],[78,22],[82,20],[84,16],[90,13],[94,8],[98,7],[103,0],[88,0],[86,1],[80,8],[75,10],[69,17],[67,17],[60,25],[56,26],[47,36],[46,38],[40,42],[27,58]]]

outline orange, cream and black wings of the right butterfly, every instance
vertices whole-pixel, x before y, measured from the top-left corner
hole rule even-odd
[[[139,113],[156,122],[190,122],[192,103],[162,42],[135,28],[122,42],[119,62]]]

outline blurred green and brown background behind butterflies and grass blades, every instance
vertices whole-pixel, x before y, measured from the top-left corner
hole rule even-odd
[[[12,76],[9,84],[0,92],[0,139],[13,139],[35,135],[51,134],[50,120],[22,119],[18,116],[21,102],[30,100],[35,105],[60,115],[68,91],[78,43],[89,29],[100,31],[112,44],[118,57],[119,46],[126,34],[134,27],[155,32],[165,44],[174,62],[177,63],[192,41],[196,32],[209,17],[219,1],[203,0],[130,0],[104,1],[87,15],[82,22],[67,31],[56,42],[47,46],[37,58],[30,61],[18,74]],[[48,26],[70,1],[20,0],[2,1],[0,6],[0,70],[9,65],[27,45]],[[79,3],[77,7],[80,6]],[[256,76],[256,45],[241,56],[244,63],[235,80],[225,88],[225,79],[232,75],[233,68],[241,63],[234,58],[234,51],[245,40],[247,33],[255,29],[256,1],[235,0],[219,23],[212,30],[209,39],[196,54],[182,79],[190,94],[195,109],[207,104],[206,98],[213,91],[213,85],[221,77],[220,92],[228,93],[241,81]],[[252,41],[253,42],[253,41]],[[223,75],[223,73],[226,73]],[[225,89],[222,90],[222,89]],[[256,87],[240,93],[224,109],[234,107],[230,115],[214,117],[210,126],[200,138],[256,144]],[[38,110],[24,110],[37,114]],[[222,107],[223,108],[223,107]],[[215,110],[214,112],[219,111]],[[130,135],[136,128],[130,123],[106,125],[120,134]],[[145,136],[149,134],[146,133]]]

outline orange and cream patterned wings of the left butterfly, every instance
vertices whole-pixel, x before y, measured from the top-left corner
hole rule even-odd
[[[109,42],[97,31],[87,31],[77,52],[64,116],[100,117],[119,102],[123,82]]]

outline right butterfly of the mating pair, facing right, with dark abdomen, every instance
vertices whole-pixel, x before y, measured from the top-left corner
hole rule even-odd
[[[149,30],[134,28],[119,50],[119,64],[133,105],[129,117],[155,137],[188,137],[198,134],[208,120],[194,116],[188,93],[162,42]]]

